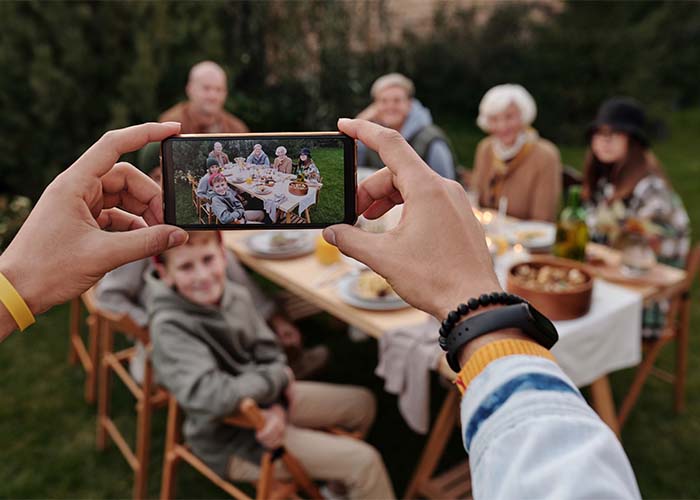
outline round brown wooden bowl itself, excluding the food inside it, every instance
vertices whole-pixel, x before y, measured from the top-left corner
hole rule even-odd
[[[585,277],[580,284],[570,285],[563,291],[546,291],[531,288],[522,283],[517,277],[517,269],[520,266],[529,266],[532,269],[541,269],[544,266],[564,269],[567,273],[572,269],[578,269]],[[508,270],[506,283],[508,292],[520,295],[530,302],[538,311],[552,321],[575,319],[586,314],[591,308],[593,294],[593,277],[585,268],[575,262],[565,259],[542,259],[515,264]]]

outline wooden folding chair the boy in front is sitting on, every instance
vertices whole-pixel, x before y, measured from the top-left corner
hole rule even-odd
[[[241,402],[239,413],[224,420],[228,425],[249,429],[261,429],[265,419],[255,401],[246,398]],[[176,466],[184,460],[209,479],[219,488],[238,500],[252,500],[233,483],[225,480],[198,458],[182,442],[182,413],[177,400],[170,396],[168,402],[168,424],[165,436],[165,456],[163,458],[163,482],[160,490],[161,500],[169,500],[175,494]],[[274,478],[274,462],[282,460],[292,476],[291,481],[278,481]],[[266,450],[260,462],[260,476],[256,484],[256,499],[298,498],[297,493],[304,491],[310,498],[322,498],[299,461],[284,448]]]

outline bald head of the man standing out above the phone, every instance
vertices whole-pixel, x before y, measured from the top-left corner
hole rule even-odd
[[[193,111],[211,117],[224,107],[228,93],[226,73],[215,62],[197,63],[190,70],[185,90]]]

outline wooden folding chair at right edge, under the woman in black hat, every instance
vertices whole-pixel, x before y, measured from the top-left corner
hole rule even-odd
[[[670,298],[671,303],[661,336],[659,338],[644,339],[642,341],[644,357],[641,364],[637,367],[632,385],[620,406],[620,411],[617,416],[620,428],[622,428],[627,421],[649,375],[656,375],[658,378],[672,383],[674,385],[675,411],[680,413],[685,408],[685,380],[688,367],[691,305],[690,292],[693,288],[693,282],[695,281],[699,268],[700,243],[696,244],[688,255],[686,278],[683,285]],[[668,373],[656,368],[654,364],[664,346],[672,341],[676,343],[676,365],[675,373]]]

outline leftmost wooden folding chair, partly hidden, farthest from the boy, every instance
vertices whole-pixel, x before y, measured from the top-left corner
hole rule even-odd
[[[88,316],[87,339],[83,340],[81,332],[82,306],[85,305]],[[82,296],[76,297],[70,302],[70,328],[68,361],[76,364],[78,361],[85,371],[85,401],[92,404],[97,394],[97,367],[99,356],[99,315],[96,314],[97,302],[95,292],[91,288]]]

